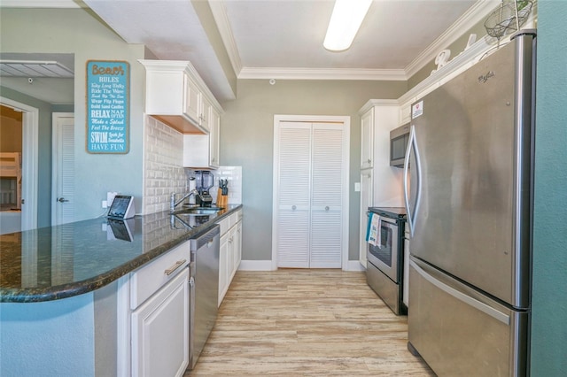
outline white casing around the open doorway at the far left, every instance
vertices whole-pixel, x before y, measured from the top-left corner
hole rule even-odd
[[[0,96],[0,104],[22,112],[21,230],[37,227],[39,109]]]

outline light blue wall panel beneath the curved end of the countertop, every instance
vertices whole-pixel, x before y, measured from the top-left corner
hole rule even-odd
[[[0,304],[0,375],[95,375],[93,295]]]

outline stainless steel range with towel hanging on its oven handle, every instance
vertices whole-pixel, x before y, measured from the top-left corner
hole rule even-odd
[[[377,232],[367,237],[366,281],[398,315],[408,312],[402,301],[405,224],[405,208],[369,208],[369,233],[372,227]]]

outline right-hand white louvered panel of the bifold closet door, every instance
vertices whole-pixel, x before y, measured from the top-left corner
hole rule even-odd
[[[314,123],[312,143],[312,268],[340,268],[342,246],[343,125]]]

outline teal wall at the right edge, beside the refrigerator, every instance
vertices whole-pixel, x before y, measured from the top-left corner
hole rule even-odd
[[[566,1],[538,3],[532,376],[567,375]]]

